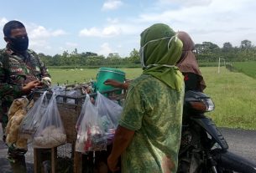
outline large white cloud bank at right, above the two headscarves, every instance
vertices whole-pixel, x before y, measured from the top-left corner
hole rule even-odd
[[[171,8],[173,4],[168,0],[159,1],[162,5],[165,3],[165,10],[141,13],[136,23],[143,23],[147,27],[153,23],[166,23],[175,31],[190,33],[196,43],[211,41],[219,46],[227,41],[238,45],[248,38],[249,33],[255,35],[253,9],[256,3],[253,0],[171,1],[179,8]],[[253,37],[248,39],[256,41]]]

